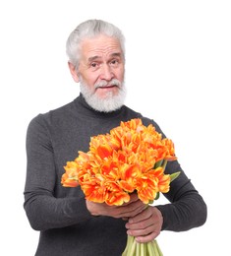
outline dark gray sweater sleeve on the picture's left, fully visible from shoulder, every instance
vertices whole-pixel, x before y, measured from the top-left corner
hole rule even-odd
[[[84,196],[55,196],[57,174],[53,148],[49,131],[40,116],[29,123],[27,158],[24,208],[32,228],[63,227],[90,218]]]

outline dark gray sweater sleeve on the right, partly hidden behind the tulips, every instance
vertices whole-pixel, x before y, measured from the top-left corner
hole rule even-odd
[[[185,231],[206,221],[206,205],[177,160],[168,162],[166,173],[181,171],[171,182],[170,191],[163,194],[169,204],[157,205],[163,216],[162,230]]]

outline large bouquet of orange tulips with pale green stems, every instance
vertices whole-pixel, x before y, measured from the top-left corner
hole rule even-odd
[[[107,134],[90,138],[89,151],[67,161],[61,183],[65,187],[81,186],[86,199],[109,206],[121,206],[136,192],[148,205],[159,193],[167,193],[171,175],[164,170],[168,160],[176,160],[173,142],[144,126],[139,118],[121,122]],[[162,255],[156,240],[138,243],[128,235],[123,256]]]

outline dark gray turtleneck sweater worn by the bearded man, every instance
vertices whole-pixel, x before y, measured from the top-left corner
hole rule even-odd
[[[123,220],[92,217],[80,187],[66,188],[61,176],[68,160],[78,151],[88,151],[91,136],[104,134],[121,121],[141,118],[144,125],[158,125],[140,113],[121,107],[110,113],[97,112],[81,95],[58,109],[39,114],[27,134],[28,169],[25,210],[29,224],[40,231],[38,256],[120,256],[127,233]],[[163,215],[162,230],[183,231],[204,224],[206,205],[177,160],[166,172],[181,170],[164,196],[169,204],[157,206]],[[156,201],[157,203],[158,201]],[[155,203],[155,204],[156,204]]]

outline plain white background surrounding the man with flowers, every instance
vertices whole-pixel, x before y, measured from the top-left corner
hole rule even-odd
[[[202,227],[158,236],[164,256],[231,255],[230,14],[223,0],[1,1],[1,255],[34,254],[38,232],[23,209],[27,127],[79,95],[65,43],[92,18],[125,33],[126,103],[174,141],[208,207]]]

